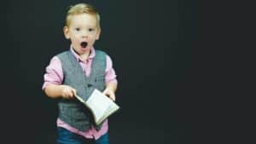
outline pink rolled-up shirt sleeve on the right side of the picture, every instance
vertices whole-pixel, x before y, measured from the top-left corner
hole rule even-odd
[[[105,83],[108,84],[109,82],[117,83],[116,74],[113,69],[113,62],[111,58],[107,55],[107,66],[106,66],[106,75],[105,75]]]

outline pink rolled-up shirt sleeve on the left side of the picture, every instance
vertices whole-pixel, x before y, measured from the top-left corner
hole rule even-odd
[[[54,56],[50,60],[49,66],[46,67],[42,89],[45,89],[49,84],[62,84],[62,80],[63,71],[61,68],[61,60],[57,56]]]

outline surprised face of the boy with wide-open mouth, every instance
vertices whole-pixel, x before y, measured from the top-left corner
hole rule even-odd
[[[73,49],[79,55],[90,52],[100,33],[96,16],[92,14],[75,14],[70,19],[69,26],[64,26],[65,37],[70,38]]]

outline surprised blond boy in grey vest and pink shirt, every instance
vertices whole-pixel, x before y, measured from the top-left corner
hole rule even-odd
[[[86,100],[93,89],[99,89],[115,101],[117,80],[112,60],[93,47],[101,33],[100,15],[90,4],[76,4],[67,12],[63,32],[71,41],[70,49],[50,60],[43,85],[46,95],[60,99],[57,142],[108,144],[108,120],[99,126],[93,124],[74,97]]]

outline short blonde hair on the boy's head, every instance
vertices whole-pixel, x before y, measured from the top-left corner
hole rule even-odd
[[[71,20],[72,16],[75,15],[75,14],[92,14],[92,15],[95,15],[96,20],[97,20],[97,24],[100,27],[100,14],[94,6],[92,6],[88,3],[78,3],[76,5],[70,6],[68,11],[67,11],[67,15],[66,15],[66,21],[65,21],[66,26],[69,26],[70,20]]]

